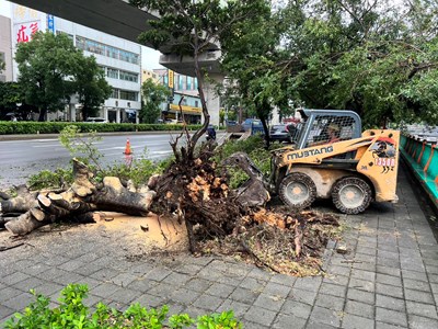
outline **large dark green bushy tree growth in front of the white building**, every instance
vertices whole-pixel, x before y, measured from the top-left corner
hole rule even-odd
[[[110,95],[95,59],[84,57],[67,34],[34,34],[31,42],[19,44],[15,60],[25,101],[38,109],[38,121],[47,111],[62,109],[71,94],[79,94],[84,116]]]

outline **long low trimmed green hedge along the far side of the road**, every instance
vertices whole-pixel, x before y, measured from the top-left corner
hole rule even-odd
[[[168,124],[94,124],[82,122],[0,122],[0,135],[21,134],[59,134],[66,126],[77,125],[81,132],[95,131],[97,133],[113,132],[159,132],[181,131],[182,125]],[[200,125],[188,125],[189,131],[196,131]]]

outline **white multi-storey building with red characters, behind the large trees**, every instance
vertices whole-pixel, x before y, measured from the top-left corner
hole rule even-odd
[[[96,58],[97,64],[105,70],[107,82],[113,88],[113,93],[102,105],[99,116],[108,122],[138,123],[138,111],[141,109],[141,46],[139,44],[22,5],[11,5],[13,53],[18,43],[28,42],[36,31],[67,33],[76,47],[82,49],[85,56]],[[18,69],[14,64],[13,79],[16,80],[16,78]],[[77,109],[78,105],[72,102],[62,118],[80,121]],[[59,118],[59,113],[55,114],[55,117],[54,114],[50,115],[49,120]]]

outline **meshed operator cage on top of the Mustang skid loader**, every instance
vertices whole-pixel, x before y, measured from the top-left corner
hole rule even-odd
[[[359,138],[361,136],[361,122],[356,112],[346,110],[300,110],[304,123],[298,140],[298,149],[315,144],[333,143]],[[332,131],[330,135],[328,131]]]

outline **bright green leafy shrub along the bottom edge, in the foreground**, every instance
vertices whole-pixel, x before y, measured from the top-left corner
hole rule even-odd
[[[27,328],[83,328],[83,329],[117,329],[117,328],[147,328],[161,329],[189,328],[196,325],[198,329],[238,329],[243,325],[234,318],[233,311],[199,316],[191,318],[187,314],[177,314],[168,318],[169,307],[161,309],[146,309],[140,304],[130,305],[125,311],[110,308],[99,303],[94,313],[83,304],[87,298],[88,286],[69,284],[61,292],[60,305],[50,308],[50,298],[36,294],[35,302],[31,303],[23,313],[15,314],[14,318],[3,324],[7,329]]]

